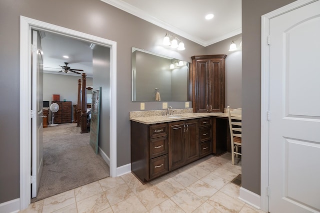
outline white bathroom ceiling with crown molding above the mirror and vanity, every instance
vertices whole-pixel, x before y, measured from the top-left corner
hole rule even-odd
[[[241,0],[101,1],[202,46],[241,33]],[[204,18],[208,13],[214,15],[211,20]]]

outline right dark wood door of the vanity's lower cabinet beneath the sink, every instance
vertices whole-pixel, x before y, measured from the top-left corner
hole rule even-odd
[[[185,121],[185,163],[195,161],[199,158],[199,121]]]

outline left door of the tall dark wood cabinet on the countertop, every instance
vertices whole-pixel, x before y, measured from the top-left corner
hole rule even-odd
[[[195,72],[195,109],[196,112],[207,112],[209,106],[209,60],[199,59],[194,63]]]

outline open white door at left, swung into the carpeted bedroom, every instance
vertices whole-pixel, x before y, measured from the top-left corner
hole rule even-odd
[[[43,53],[41,49],[40,34],[36,30],[32,34],[32,169],[31,169],[31,198],[36,197],[42,172],[42,149],[43,149],[43,112],[42,112],[42,87],[43,87]]]

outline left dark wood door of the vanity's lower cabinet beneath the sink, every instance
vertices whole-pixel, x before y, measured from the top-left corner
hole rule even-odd
[[[184,164],[184,121],[169,123],[169,171],[176,169]]]

